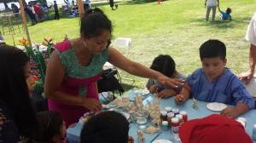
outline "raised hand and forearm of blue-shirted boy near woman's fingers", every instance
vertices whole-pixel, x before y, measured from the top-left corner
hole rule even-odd
[[[191,87],[188,83],[185,84],[184,88],[181,89],[181,92],[175,96],[174,102],[176,104],[183,104],[186,100],[189,99]]]

